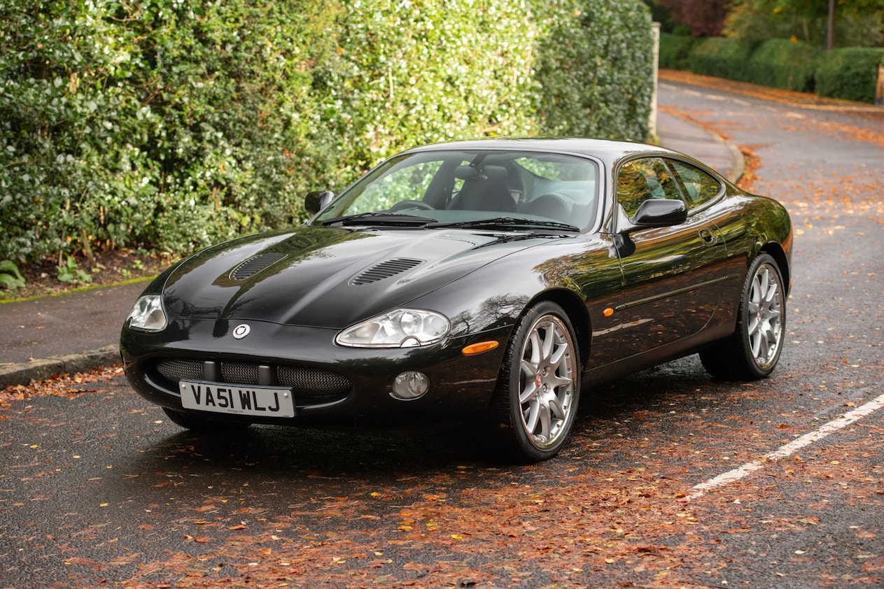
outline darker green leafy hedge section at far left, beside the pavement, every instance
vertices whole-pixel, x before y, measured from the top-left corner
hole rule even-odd
[[[0,4],[0,257],[186,253],[301,215],[323,141],[291,115],[317,110],[327,3],[25,4]]]

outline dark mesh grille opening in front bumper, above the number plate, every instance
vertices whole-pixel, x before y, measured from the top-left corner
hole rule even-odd
[[[353,384],[338,373],[320,368],[288,365],[261,365],[256,362],[221,361],[210,363],[217,366],[220,381],[239,385],[279,385],[291,387],[295,399],[322,399],[347,396]],[[271,382],[259,381],[261,366],[271,376]],[[156,361],[156,372],[167,381],[203,381],[207,379],[206,362],[196,359],[160,359]],[[210,372],[210,371],[209,371]]]

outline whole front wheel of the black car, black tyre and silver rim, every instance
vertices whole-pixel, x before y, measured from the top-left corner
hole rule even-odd
[[[514,329],[490,408],[494,449],[507,460],[551,458],[568,440],[580,398],[574,328],[541,302]]]

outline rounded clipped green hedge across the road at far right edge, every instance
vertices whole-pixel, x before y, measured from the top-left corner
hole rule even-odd
[[[875,102],[879,64],[884,64],[884,49],[834,49],[819,59],[816,92],[820,96]]]

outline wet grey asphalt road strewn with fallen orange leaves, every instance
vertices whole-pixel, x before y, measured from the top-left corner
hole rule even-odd
[[[0,586],[880,586],[884,122],[659,100],[756,155],[753,189],[793,215],[771,378],[636,374],[530,467],[464,431],[201,438],[121,377],[72,383],[0,410]]]

